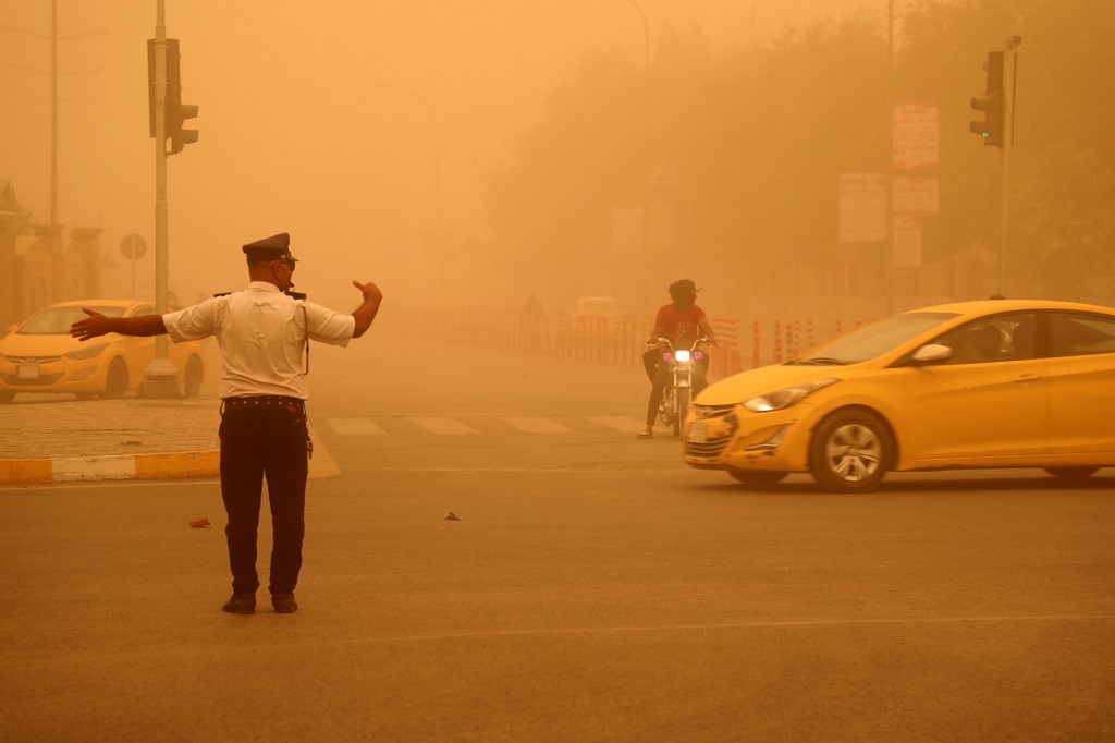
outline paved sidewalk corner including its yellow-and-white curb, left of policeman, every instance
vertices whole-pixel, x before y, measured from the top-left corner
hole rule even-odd
[[[221,401],[75,401],[0,406],[0,484],[212,476]]]

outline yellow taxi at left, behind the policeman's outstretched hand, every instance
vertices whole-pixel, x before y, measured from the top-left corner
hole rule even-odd
[[[143,370],[155,358],[155,338],[115,332],[86,342],[69,328],[86,317],[83,307],[109,317],[154,315],[151,302],[128,299],[85,299],[59,302],[12,326],[0,353],[0,403],[18,393],[71,393],[79,398],[123,397],[143,382]],[[197,394],[205,377],[205,344],[167,340],[167,357],[178,367],[182,392]]]

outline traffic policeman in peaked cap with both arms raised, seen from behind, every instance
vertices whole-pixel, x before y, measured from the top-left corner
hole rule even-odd
[[[265,477],[274,531],[268,589],[274,610],[289,614],[298,609],[294,588],[306,532],[309,389],[303,354],[310,340],[347,346],[361,337],[376,319],[382,292],[370,281],[353,281],[363,300],[351,315],[342,315],[287,293],[298,263],[289,234],[249,243],[243,251],[249,284],[242,291],[167,315],[114,318],[85,309],[89,317],[75,322],[70,335],[81,340],[106,332],[165,332],[175,341],[216,337],[223,363],[221,495],[229,518],[233,591],[222,608],[255,611],[255,544]]]

